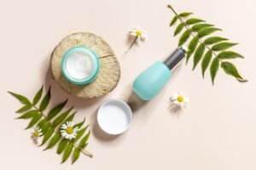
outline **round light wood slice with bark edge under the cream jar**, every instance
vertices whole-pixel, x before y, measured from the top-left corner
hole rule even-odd
[[[68,82],[61,72],[61,59],[69,48],[85,46],[93,50],[99,58],[100,70],[93,82],[86,85],[76,85]],[[102,37],[90,32],[76,32],[64,37],[51,54],[50,70],[55,81],[68,94],[81,98],[95,98],[108,94],[116,87],[120,77],[119,61],[113,49]]]

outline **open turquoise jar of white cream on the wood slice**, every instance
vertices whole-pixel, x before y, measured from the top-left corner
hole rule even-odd
[[[90,48],[70,48],[63,55],[61,71],[69,82],[88,84],[96,78],[99,71],[98,56]]]

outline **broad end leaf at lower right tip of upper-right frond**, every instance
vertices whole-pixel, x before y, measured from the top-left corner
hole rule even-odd
[[[230,63],[228,61],[224,61],[221,63],[220,66],[225,71],[226,74],[236,77],[236,79],[240,82],[247,82],[247,80],[245,80],[243,77],[241,77],[241,75],[239,74],[239,72],[236,69],[236,66],[233,65],[232,63]]]

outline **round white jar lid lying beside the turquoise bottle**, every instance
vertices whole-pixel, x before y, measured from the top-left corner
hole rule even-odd
[[[132,111],[121,99],[109,99],[104,102],[97,114],[97,122],[108,134],[124,133],[131,125]]]

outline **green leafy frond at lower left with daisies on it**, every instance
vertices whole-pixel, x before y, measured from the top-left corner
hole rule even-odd
[[[79,131],[75,139],[62,138],[60,132],[61,124],[66,122],[72,122],[73,117],[75,116],[77,111],[70,114],[73,110],[73,107],[71,107],[67,111],[61,112],[61,110],[63,110],[65,105],[67,104],[67,100],[65,100],[61,102],[61,104],[53,107],[53,109],[51,109],[49,113],[45,115],[44,111],[49,105],[51,93],[49,88],[47,94],[44,95],[41,103],[39,103],[43,95],[43,88],[44,86],[42,86],[42,88],[38,90],[38,93],[34,96],[32,102],[23,95],[9,92],[9,94],[13,95],[16,99],[20,101],[21,104],[23,104],[21,109],[17,112],[24,113],[22,113],[21,116],[17,117],[17,119],[30,119],[30,122],[27,125],[26,129],[31,127],[39,127],[41,129],[41,132],[43,133],[43,141],[39,146],[43,146],[46,144],[44,150],[49,150],[50,148],[53,148],[55,145],[57,145],[57,154],[61,154],[62,152],[64,152],[61,163],[67,161],[68,157],[71,155],[73,155],[72,163],[74,163],[79,159],[80,152],[84,153],[84,155],[86,156],[92,157],[90,152],[84,150],[88,144],[87,140],[90,136],[90,131],[86,133],[89,125],[83,127],[85,119],[82,122],[74,125],[74,127],[79,127]],[[37,105],[39,105],[39,107]]]

